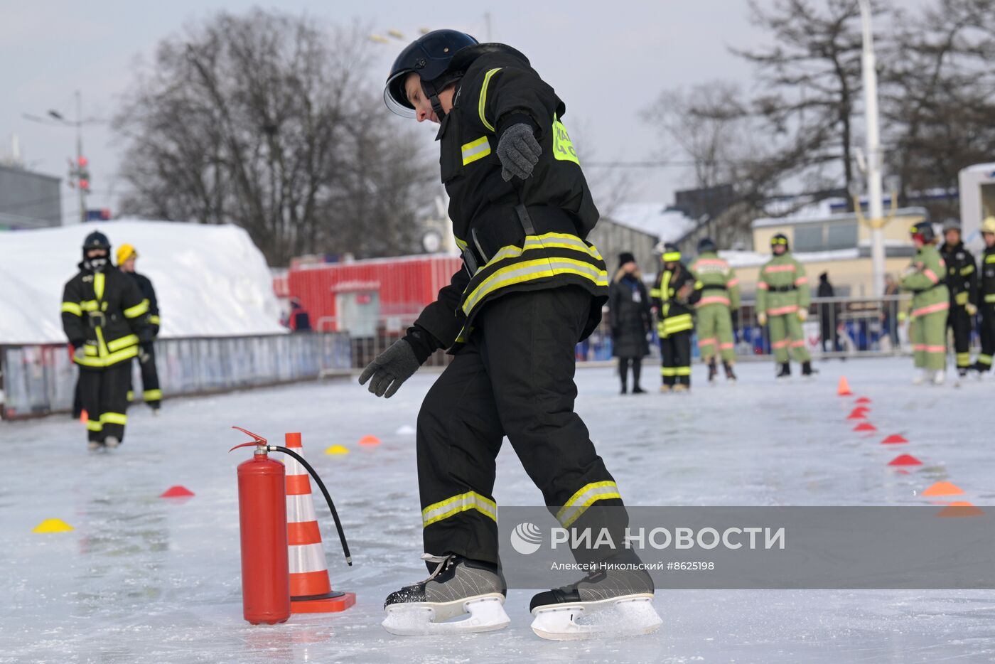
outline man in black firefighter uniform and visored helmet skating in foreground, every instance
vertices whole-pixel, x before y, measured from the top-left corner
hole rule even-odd
[[[437,301],[360,376],[389,397],[436,349],[455,354],[418,416],[434,570],[420,585],[424,599],[426,583],[441,592],[468,567],[501,584],[493,490],[505,435],[564,528],[611,513],[611,530],[623,537],[619,489],[573,409],[574,348],[600,322],[609,278],[584,239],[598,210],[561,121],[565,106],[525,56],[437,30],[397,58],[384,100],[397,114],[440,123],[442,181],[464,259]],[[645,583],[652,592],[648,575]],[[388,604],[415,601],[409,590]]]

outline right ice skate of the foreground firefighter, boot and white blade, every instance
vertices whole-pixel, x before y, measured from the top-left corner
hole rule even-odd
[[[645,571],[594,571],[573,585],[532,597],[532,631],[556,641],[657,631],[653,581]]]

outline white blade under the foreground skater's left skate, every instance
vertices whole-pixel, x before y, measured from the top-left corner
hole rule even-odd
[[[499,592],[450,602],[391,604],[381,624],[397,636],[491,632],[511,622],[503,604],[504,596]],[[469,618],[453,619],[467,613]]]

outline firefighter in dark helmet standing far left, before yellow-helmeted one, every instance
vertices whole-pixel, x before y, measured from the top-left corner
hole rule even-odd
[[[110,243],[99,231],[84,241],[79,267],[63,292],[63,330],[80,366],[90,449],[113,448],[124,439],[131,358],[150,337],[148,303],[134,281],[110,264]]]

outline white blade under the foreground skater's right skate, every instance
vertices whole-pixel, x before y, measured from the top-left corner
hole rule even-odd
[[[664,623],[653,608],[653,593],[537,606],[532,631],[552,641],[651,634]]]

